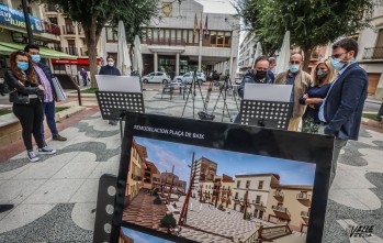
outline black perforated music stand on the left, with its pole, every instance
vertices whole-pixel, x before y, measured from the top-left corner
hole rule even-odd
[[[119,120],[121,139],[123,137],[122,121],[127,111],[145,113],[142,92],[97,91],[97,101],[103,120]]]

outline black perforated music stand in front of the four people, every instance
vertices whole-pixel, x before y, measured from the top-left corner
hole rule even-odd
[[[292,102],[241,100],[240,124],[288,130]]]

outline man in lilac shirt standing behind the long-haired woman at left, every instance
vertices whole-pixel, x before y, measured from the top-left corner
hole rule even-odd
[[[44,87],[44,99],[43,99],[43,111],[42,117],[44,121],[44,117],[46,117],[46,123],[52,133],[52,140],[55,141],[67,141],[66,137],[58,134],[58,130],[56,126],[55,120],[55,100],[56,100],[56,91],[53,86],[53,75],[48,66],[41,63],[40,47],[37,45],[26,45],[24,52],[29,53],[32,57],[33,69],[37,76],[37,81]],[[41,133],[43,140],[45,140],[44,135],[44,123],[41,125]]]

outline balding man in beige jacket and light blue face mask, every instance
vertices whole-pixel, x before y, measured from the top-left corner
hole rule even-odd
[[[279,74],[275,78],[275,85],[292,85],[290,102],[293,103],[293,113],[289,122],[289,131],[297,131],[305,106],[301,106],[300,98],[306,93],[307,88],[312,85],[312,77],[302,70],[303,57],[295,53],[290,56],[290,66],[288,71]]]

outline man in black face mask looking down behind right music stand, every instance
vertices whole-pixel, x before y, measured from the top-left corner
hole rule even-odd
[[[272,84],[268,77],[269,59],[267,56],[260,56],[256,59],[254,68],[245,74],[243,81],[238,88],[240,98],[244,98],[245,84]]]

